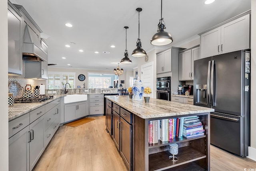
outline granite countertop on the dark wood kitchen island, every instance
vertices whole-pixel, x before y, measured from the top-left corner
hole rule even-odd
[[[182,104],[180,102],[172,102],[156,98],[150,98],[149,103],[145,103],[144,99],[142,101],[134,101],[133,99],[130,99],[129,96],[105,97],[143,119],[214,112],[214,109],[212,108],[194,106],[192,104]]]

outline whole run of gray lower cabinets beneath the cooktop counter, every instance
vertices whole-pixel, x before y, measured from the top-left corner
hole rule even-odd
[[[10,121],[9,171],[32,171],[59,125],[59,99]]]

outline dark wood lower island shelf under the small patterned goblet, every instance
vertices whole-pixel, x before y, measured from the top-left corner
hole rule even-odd
[[[184,165],[186,163],[198,161],[200,159],[206,158],[206,155],[194,149],[191,146],[180,147],[177,161],[172,161],[169,156],[172,155],[168,151],[162,151],[159,153],[150,154],[149,157],[149,171],[162,171],[170,169],[172,167],[177,167],[179,165]],[[156,163],[158,163],[156,165]],[[198,165],[198,167],[200,167]],[[176,168],[175,168],[176,169]],[[201,167],[201,169],[203,169]]]

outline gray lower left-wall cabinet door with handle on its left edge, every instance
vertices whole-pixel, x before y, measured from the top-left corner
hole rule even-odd
[[[30,171],[36,165],[36,162],[44,152],[44,117],[40,117],[30,124],[29,128],[30,142],[29,142],[29,158]]]

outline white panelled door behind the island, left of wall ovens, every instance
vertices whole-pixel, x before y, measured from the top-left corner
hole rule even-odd
[[[141,65],[141,81],[144,88],[150,87],[152,92],[148,94],[150,97],[154,97],[154,90],[153,90],[153,62]],[[144,94],[146,96],[146,94]]]

